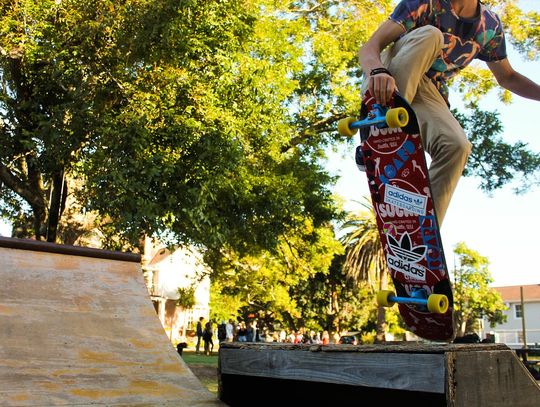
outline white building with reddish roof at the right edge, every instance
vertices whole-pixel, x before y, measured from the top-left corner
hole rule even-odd
[[[523,307],[521,290],[523,287]],[[525,316],[525,336],[527,345],[540,346],[540,284],[524,286],[494,287],[501,294],[502,300],[508,307],[504,314],[507,321],[504,324],[490,328],[484,320],[484,337],[491,333],[495,341],[505,343],[511,348],[523,347],[523,316]]]

